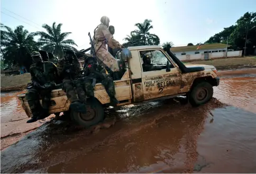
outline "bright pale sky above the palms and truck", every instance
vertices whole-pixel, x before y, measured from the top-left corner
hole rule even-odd
[[[69,39],[80,50],[89,47],[88,32],[93,33],[103,15],[115,26],[114,38],[121,43],[135,23],[150,19],[151,33],[161,43],[180,46],[204,42],[235,24],[245,12],[255,11],[256,0],[1,0],[1,23],[11,28],[23,25],[30,32],[42,31],[44,23],[62,23],[62,32],[72,32]]]

